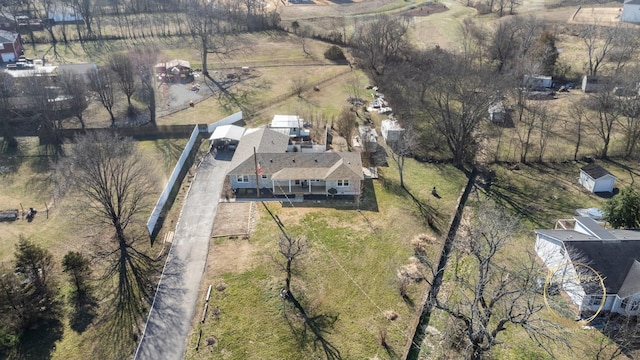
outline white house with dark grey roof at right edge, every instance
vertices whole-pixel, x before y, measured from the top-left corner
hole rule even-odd
[[[540,259],[551,271],[564,266],[580,272],[578,264],[585,264],[602,277],[606,293],[601,286],[584,286],[586,281],[559,284],[580,313],[640,314],[640,231],[605,229],[590,217],[573,222],[573,229],[535,230]]]

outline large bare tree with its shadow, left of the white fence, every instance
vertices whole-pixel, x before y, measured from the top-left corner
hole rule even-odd
[[[60,195],[73,196],[78,215],[92,227],[105,226],[113,241],[95,243],[105,264],[105,312],[114,341],[137,336],[153,284],[155,262],[134,247],[141,230],[132,226],[145,210],[152,179],[135,142],[117,134],[92,132],[76,137],[67,157],[55,166]],[[100,238],[100,237],[98,237]]]

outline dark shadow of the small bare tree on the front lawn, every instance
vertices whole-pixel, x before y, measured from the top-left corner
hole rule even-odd
[[[301,298],[301,301],[304,299]],[[293,316],[289,316],[286,309],[287,304],[290,303],[297,310],[297,313]],[[338,321],[337,314],[317,314],[314,315],[311,312],[307,312],[304,306],[296,299],[292,293],[288,293],[283,299],[284,317],[291,328],[293,334],[297,337],[298,343],[301,348],[306,348],[309,343],[313,343],[313,350],[315,351],[318,344],[322,347],[327,360],[340,360],[340,350],[330,343],[326,338],[326,334],[330,334],[330,330],[333,325]],[[302,326],[295,322],[296,318],[302,319]]]

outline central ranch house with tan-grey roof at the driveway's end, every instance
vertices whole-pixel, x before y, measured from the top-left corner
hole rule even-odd
[[[286,152],[289,136],[247,129],[228,172],[233,189],[269,189],[274,195],[358,195],[364,179],[358,152]],[[255,153],[254,153],[255,151]],[[257,177],[257,181],[256,181]]]

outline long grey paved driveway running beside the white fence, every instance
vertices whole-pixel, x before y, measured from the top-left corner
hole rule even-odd
[[[231,155],[220,153],[216,158],[207,155],[196,170],[145,333],[134,356],[136,360],[184,357],[207,261],[213,219]]]

